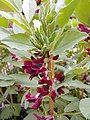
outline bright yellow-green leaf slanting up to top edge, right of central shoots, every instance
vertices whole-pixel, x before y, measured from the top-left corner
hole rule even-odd
[[[66,7],[60,10],[56,18],[59,27],[63,27],[68,22],[78,3],[79,0],[72,0]]]

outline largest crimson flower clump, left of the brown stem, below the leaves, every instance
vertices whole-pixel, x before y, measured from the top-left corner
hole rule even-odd
[[[43,57],[31,57],[31,61],[24,61],[24,66],[22,68],[26,73],[30,74],[31,79],[35,76],[38,76],[39,74],[45,73],[46,71]]]

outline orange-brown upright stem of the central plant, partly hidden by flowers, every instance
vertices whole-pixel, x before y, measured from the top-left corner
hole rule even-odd
[[[48,76],[50,80],[54,80],[54,60],[53,56],[50,55],[48,58]],[[50,108],[50,115],[54,114],[54,101],[51,98],[51,92],[52,92],[52,86],[49,87],[49,96],[50,96],[50,101],[49,101],[49,108]]]

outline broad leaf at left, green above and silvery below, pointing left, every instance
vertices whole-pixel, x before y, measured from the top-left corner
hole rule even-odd
[[[23,50],[21,54],[24,54],[24,51],[27,51],[33,48],[33,45],[29,39],[30,38],[26,34],[20,33],[20,34],[14,34],[8,37],[7,39],[3,39],[3,41],[1,42],[12,49],[14,48],[17,50]],[[20,54],[20,51],[17,51],[17,50],[16,52]],[[26,53],[26,56],[29,56],[28,52]]]

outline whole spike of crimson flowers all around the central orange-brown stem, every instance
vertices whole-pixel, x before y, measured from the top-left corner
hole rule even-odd
[[[38,109],[42,103],[42,99],[46,95],[49,95],[49,92],[50,92],[49,88],[50,88],[50,86],[53,85],[54,81],[49,80],[49,78],[48,78],[48,70],[46,69],[47,68],[46,63],[44,62],[45,58],[42,57],[40,52],[36,52],[34,55],[36,57],[31,56],[31,60],[24,61],[24,66],[22,68],[23,68],[24,72],[30,74],[30,79],[32,79],[33,77],[36,77],[36,76],[40,78],[38,80],[38,84],[40,84],[42,86],[37,88],[37,94],[35,96],[33,96],[32,94],[28,93],[25,96],[27,101],[34,103],[31,108]],[[58,57],[59,57],[59,55],[54,56],[53,60],[57,60]],[[64,73],[57,72],[55,74],[55,81],[62,82],[63,80],[64,80]],[[64,93],[63,88],[60,87],[60,88],[58,88],[57,91],[52,90],[50,96],[51,96],[52,100],[55,101],[55,98],[58,95],[61,95],[63,93]],[[42,120],[42,119],[40,119],[40,120]],[[45,118],[45,120],[53,120],[53,119]]]

